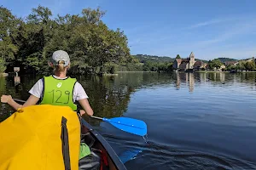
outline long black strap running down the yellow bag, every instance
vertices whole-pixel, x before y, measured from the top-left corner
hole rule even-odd
[[[61,140],[62,140],[62,155],[65,164],[65,170],[71,170],[70,167],[70,155],[68,144],[68,132],[67,132],[67,119],[62,116],[61,119]]]

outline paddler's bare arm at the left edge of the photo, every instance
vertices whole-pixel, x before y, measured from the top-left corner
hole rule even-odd
[[[15,111],[17,111],[20,108],[29,106],[29,105],[36,105],[38,100],[39,100],[39,98],[37,98],[36,96],[30,95],[30,97],[26,100],[26,103],[24,105],[20,105],[15,102],[15,100],[12,98],[11,95],[3,95],[1,97],[1,102],[9,104],[10,106],[12,106],[15,109]]]

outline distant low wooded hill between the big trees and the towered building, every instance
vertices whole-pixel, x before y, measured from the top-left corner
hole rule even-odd
[[[145,63],[147,61],[151,61],[151,62],[157,62],[157,63],[164,63],[164,62],[173,62],[174,59],[171,57],[159,57],[156,55],[146,55],[146,54],[137,54],[137,55],[133,55],[133,57],[139,59],[139,61],[141,63]]]

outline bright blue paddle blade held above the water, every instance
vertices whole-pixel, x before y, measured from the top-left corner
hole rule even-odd
[[[147,134],[147,125],[141,120],[128,117],[114,117],[111,119],[103,118],[102,120],[104,122],[109,122],[114,127],[127,133],[133,133],[139,136],[145,136]]]

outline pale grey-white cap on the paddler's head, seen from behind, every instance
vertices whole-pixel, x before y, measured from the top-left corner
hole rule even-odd
[[[58,65],[59,61],[64,61],[64,66],[69,65],[70,63],[70,59],[69,59],[69,55],[67,54],[66,51],[63,50],[57,50],[55,51],[51,58],[49,59],[49,61],[53,64],[53,65]]]

